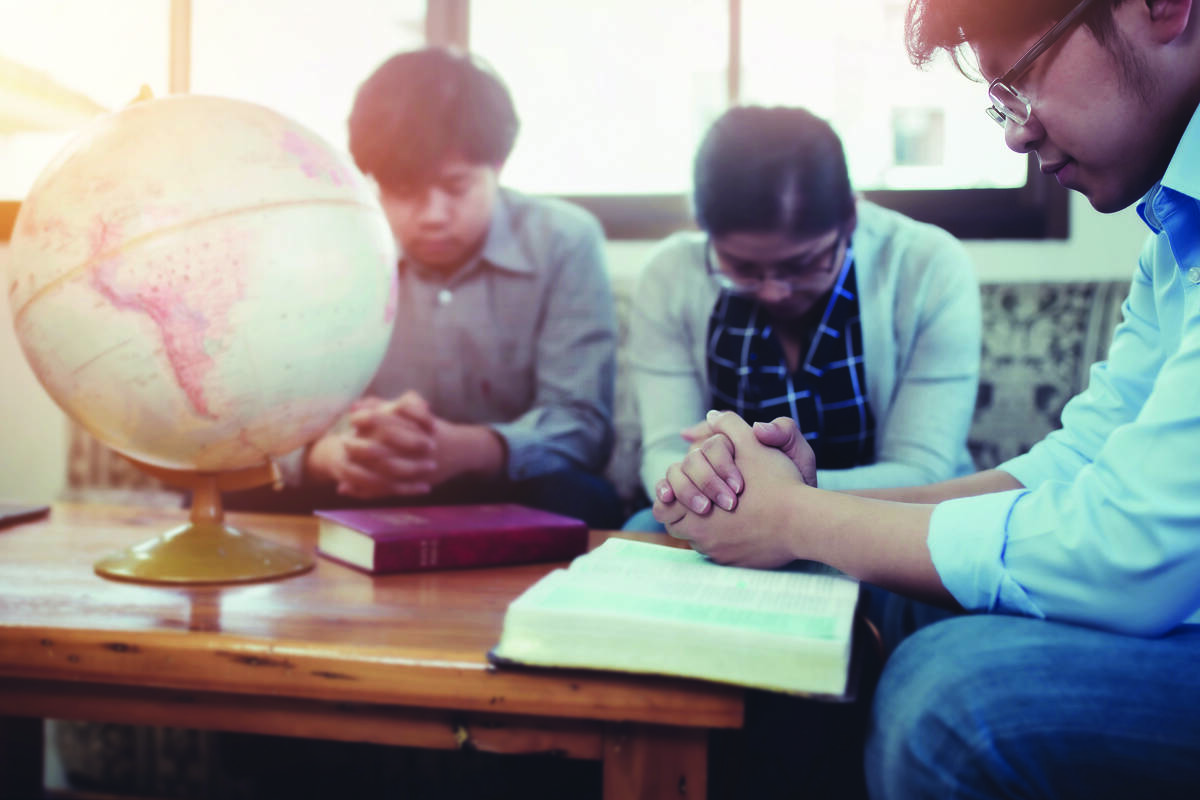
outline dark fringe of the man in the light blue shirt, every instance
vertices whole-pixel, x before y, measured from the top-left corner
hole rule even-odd
[[[1067,16],[1079,0],[908,0],[905,44],[917,66],[946,50],[964,74],[962,50],[973,43],[1026,37]],[[1112,10],[1124,0],[1099,0],[1084,12],[1082,24],[1102,44],[1116,36]]]

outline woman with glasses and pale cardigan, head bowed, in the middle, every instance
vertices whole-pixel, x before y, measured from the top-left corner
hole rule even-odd
[[[856,199],[838,134],[802,108],[721,115],[692,201],[700,230],[655,248],[630,315],[648,493],[710,408],[794,420],[830,488],[971,471],[980,309],[958,240]],[[648,510],[626,528],[661,530]]]

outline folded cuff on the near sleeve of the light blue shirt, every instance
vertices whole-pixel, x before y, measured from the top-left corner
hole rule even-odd
[[[1042,616],[1004,566],[1008,519],[1026,494],[1027,489],[995,492],[946,500],[934,509],[929,555],[942,584],[964,608]]]

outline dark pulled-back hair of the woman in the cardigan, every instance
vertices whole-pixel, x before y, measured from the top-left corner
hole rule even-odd
[[[803,108],[740,106],[704,134],[692,172],[696,224],[809,235],[846,224],[854,196],[841,140]]]

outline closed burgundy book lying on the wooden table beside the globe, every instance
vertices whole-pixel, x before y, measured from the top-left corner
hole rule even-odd
[[[514,503],[314,513],[317,552],[373,575],[565,561],[588,548],[582,521]]]

